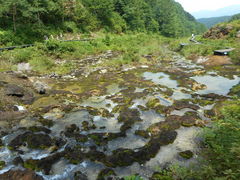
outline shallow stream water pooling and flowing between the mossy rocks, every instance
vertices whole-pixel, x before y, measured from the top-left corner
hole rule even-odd
[[[184,63],[184,61],[179,61],[173,66],[176,66],[177,68],[183,68],[185,73],[189,73],[194,69],[204,69],[201,66],[196,66],[191,63]],[[136,74],[136,79],[130,78],[131,75]],[[151,68],[144,68],[144,70],[142,69],[141,71],[129,70],[121,72],[121,74],[114,74],[112,76],[115,76],[116,79],[110,79],[110,82],[105,80],[108,85],[105,87],[106,90],[100,95],[86,96],[85,98],[80,98],[79,100],[73,100],[74,104],[81,106],[82,109],[75,109],[74,111],[70,111],[68,113],[55,110],[43,114],[45,119],[50,119],[54,122],[53,126],[50,127],[51,133],[49,135],[51,137],[61,137],[66,141],[66,144],[57,151],[51,153],[48,149],[32,150],[26,147],[21,147],[23,153],[19,153],[17,151],[9,150],[7,146],[14,138],[23,133],[24,130],[16,130],[13,131],[13,133],[4,136],[2,138],[4,146],[0,149],[0,160],[6,162],[6,167],[2,169],[0,173],[4,173],[13,167],[21,168],[20,166],[16,167],[13,165],[12,161],[14,157],[20,156],[24,161],[31,158],[42,159],[54,153],[64,151],[65,147],[67,146],[76,146],[77,144],[80,144],[83,147],[96,146],[98,151],[103,152],[107,156],[112,155],[114,150],[118,150],[120,148],[137,151],[150,141],[151,134],[150,137],[144,138],[136,135],[136,131],[147,131],[150,126],[160,122],[165,122],[166,117],[169,115],[183,116],[187,112],[196,112],[202,120],[209,121],[210,119],[205,117],[204,110],[211,110],[214,106],[215,100],[210,100],[212,101],[211,105],[201,106],[198,104],[200,107],[198,110],[184,107],[180,109],[174,109],[174,102],[184,99],[190,102],[195,98],[192,96],[193,94],[202,95],[215,93],[218,95],[227,96],[230,89],[240,81],[240,78],[237,75],[235,75],[233,79],[228,79],[220,75],[209,75],[206,72],[202,75],[193,75],[189,78],[186,78],[186,80],[193,79],[197,83],[206,86],[203,89],[194,91],[191,88],[186,88],[183,86],[178,79],[171,78],[171,73],[162,72],[161,68],[155,68],[154,71]],[[61,82],[61,84],[64,83],[67,82]],[[94,86],[95,82],[92,83]],[[91,82],[88,83],[88,86],[89,84],[91,85]],[[101,86],[96,87],[95,90],[101,91],[101,88]],[[90,90],[86,90],[86,87],[83,88],[81,82],[76,82],[75,84],[74,82],[71,82],[71,87],[68,87],[66,84],[63,87],[63,90],[66,89],[68,91],[72,91],[73,93],[82,93],[83,89],[84,91],[91,90],[91,88]],[[127,91],[128,89],[130,90]],[[167,89],[170,89],[172,93],[168,94]],[[138,93],[142,94],[138,95]],[[128,96],[131,96],[131,100],[127,99]],[[147,107],[149,100],[152,98],[158,99],[160,105],[163,107],[173,107],[171,113],[161,113],[157,112],[156,109]],[[120,99],[120,101],[117,101],[116,99]],[[49,104],[52,103],[54,102],[49,102]],[[65,128],[72,124],[80,127],[80,132],[78,133],[81,135],[90,135],[92,133],[120,133],[121,127],[124,123],[118,121],[120,112],[114,111],[120,105],[126,106],[129,109],[137,109],[140,113],[139,117],[141,118],[141,121],[131,124],[131,127],[126,130],[126,136],[114,138],[103,145],[96,145],[95,142],[90,138],[88,138],[87,142],[78,143],[74,138],[67,138],[62,134]],[[41,104],[38,106],[41,106]],[[87,107],[97,110],[107,110],[112,116],[103,117],[102,114],[91,114]],[[61,116],[57,116],[59,114]],[[94,124],[95,128],[90,130],[81,129],[84,121]],[[194,163],[199,153],[198,133],[200,131],[200,127],[180,126],[180,128],[176,129],[177,137],[173,143],[162,145],[158,153],[149,161],[145,163],[134,162],[130,166],[113,167],[112,169],[120,177],[137,173],[144,179],[148,179],[152,176],[156,169],[160,167],[166,167],[167,165],[174,163],[179,163],[185,166],[189,165],[190,163]],[[193,157],[191,159],[184,159],[179,156],[179,152],[187,150],[193,152]],[[88,177],[88,179],[94,180],[97,178],[98,173],[106,167],[107,166],[104,165],[104,163],[90,159],[84,159],[82,162],[77,164],[71,164],[68,159],[62,157],[57,162],[53,163],[50,174],[46,175],[41,170],[37,171],[37,173],[42,175],[47,180],[71,180],[74,179],[74,173],[76,171],[81,171]]]

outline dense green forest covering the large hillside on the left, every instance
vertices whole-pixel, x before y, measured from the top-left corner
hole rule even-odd
[[[174,0],[0,0],[0,28],[36,38],[51,31],[160,31],[166,36],[205,27]]]

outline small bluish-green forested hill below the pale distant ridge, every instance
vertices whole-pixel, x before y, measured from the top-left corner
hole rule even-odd
[[[208,28],[211,28],[218,23],[229,21],[231,18],[232,16],[221,16],[221,17],[201,18],[201,19],[197,19],[197,21],[204,24]]]

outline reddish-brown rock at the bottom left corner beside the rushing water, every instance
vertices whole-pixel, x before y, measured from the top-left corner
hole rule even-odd
[[[1,180],[44,180],[34,171],[30,170],[10,170],[0,175]]]

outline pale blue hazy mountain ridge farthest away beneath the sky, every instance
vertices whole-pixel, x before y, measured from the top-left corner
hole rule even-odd
[[[212,11],[198,11],[192,13],[196,19],[200,18],[211,18],[211,17],[221,17],[221,16],[232,16],[234,14],[240,13],[240,4],[228,6],[225,8],[212,10]]]

